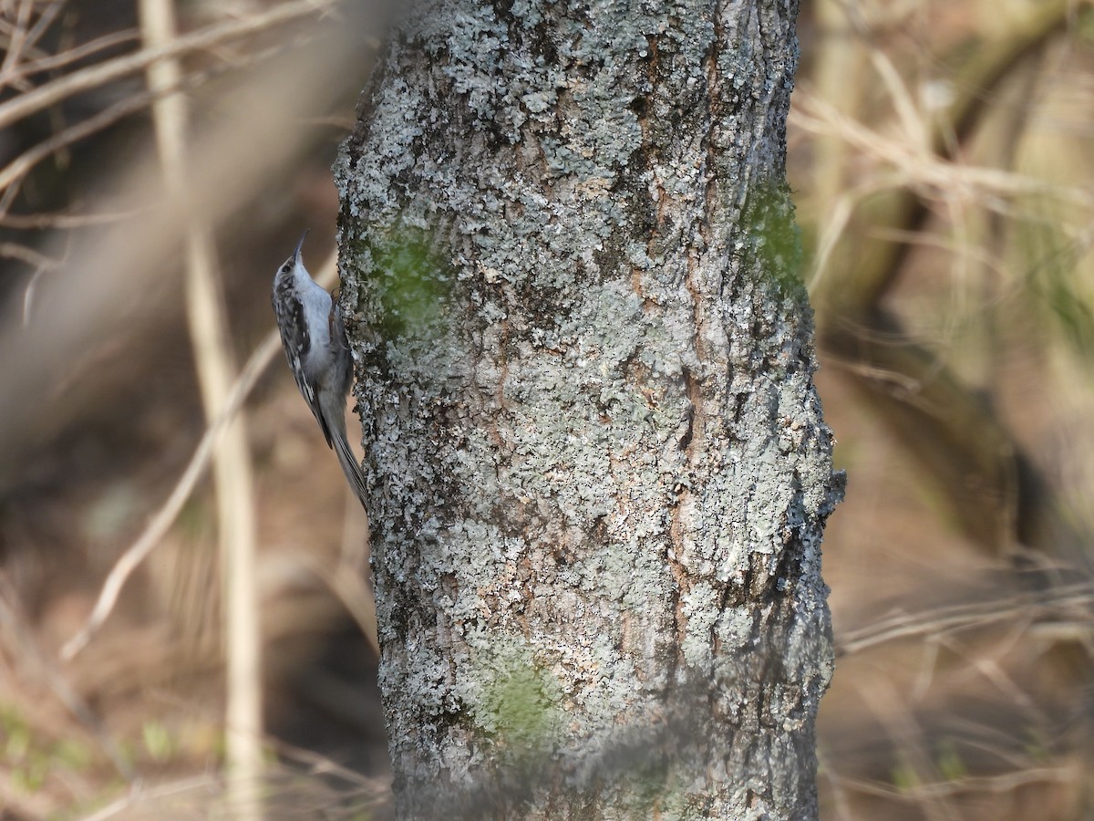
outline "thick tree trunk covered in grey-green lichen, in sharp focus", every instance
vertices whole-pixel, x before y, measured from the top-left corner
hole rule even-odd
[[[434,0],[336,165],[401,818],[816,817],[793,0]]]

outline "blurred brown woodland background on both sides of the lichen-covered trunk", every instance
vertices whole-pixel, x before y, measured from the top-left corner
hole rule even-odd
[[[802,7],[789,175],[849,474],[823,814],[1091,818],[1094,14]],[[384,13],[0,0],[2,819],[246,817],[259,770],[271,817],[387,811],[366,524],[269,309],[303,229],[334,276]]]

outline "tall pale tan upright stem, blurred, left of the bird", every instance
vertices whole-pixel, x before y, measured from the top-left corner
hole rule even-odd
[[[173,0],[140,0],[141,34],[151,51],[177,42]],[[188,208],[189,130],[186,100],[178,89],[183,68],[176,57],[148,67],[152,125],[167,196],[182,204],[185,221],[186,317],[198,373],[206,425],[213,425],[231,401],[236,380],[231,329],[217,265],[212,228],[203,209]],[[258,592],[255,579],[255,504],[246,419],[237,409],[213,451],[217,539],[220,557],[221,633],[228,702],[225,772],[233,818],[254,821],[261,813],[263,699]]]

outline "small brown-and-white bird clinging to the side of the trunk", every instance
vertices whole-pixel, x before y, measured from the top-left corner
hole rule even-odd
[[[274,313],[296,386],[364,505],[364,476],[346,440],[346,394],[353,382],[346,326],[338,302],[304,267],[300,250],[305,236],[307,231],[274,277]]]

